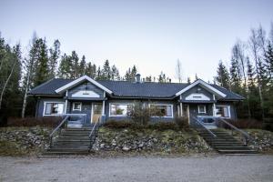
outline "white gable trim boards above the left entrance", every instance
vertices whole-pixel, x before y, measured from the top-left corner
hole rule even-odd
[[[108,94],[112,94],[113,93],[111,90],[109,90],[108,88],[106,88],[106,86],[103,86],[103,85],[99,84],[98,82],[96,82],[94,79],[92,79],[89,76],[81,76],[81,77],[77,78],[76,80],[74,80],[74,81],[66,84],[65,86],[59,87],[55,91],[56,91],[56,93],[60,94],[60,93],[62,93],[64,91],[66,91],[67,89],[72,88],[73,86],[76,86],[77,84],[82,83],[82,82],[84,82],[86,80],[89,81],[89,82],[91,82],[95,86],[103,89]]]

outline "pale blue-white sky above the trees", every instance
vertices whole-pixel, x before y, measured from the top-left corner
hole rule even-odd
[[[142,76],[164,71],[173,80],[179,59],[185,81],[196,73],[212,80],[238,38],[259,24],[268,31],[272,21],[272,0],[0,0],[0,31],[10,44],[25,50],[35,31],[48,45],[59,39],[63,53],[76,50],[96,65],[108,59],[121,74],[136,65]]]

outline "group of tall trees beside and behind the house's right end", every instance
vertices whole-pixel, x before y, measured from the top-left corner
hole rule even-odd
[[[273,117],[273,24],[269,34],[259,25],[248,40],[232,47],[230,65],[219,61],[215,82],[246,99],[238,116],[265,120]]]

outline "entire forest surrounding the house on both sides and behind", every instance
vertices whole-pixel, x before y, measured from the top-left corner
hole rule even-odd
[[[23,50],[26,50],[23,52]],[[227,50],[229,51],[229,50]],[[267,34],[259,25],[251,28],[248,40],[231,47],[230,60],[219,61],[214,84],[223,86],[246,99],[238,103],[238,117],[272,122],[273,118],[273,24]],[[35,98],[27,92],[52,78],[75,79],[90,76],[96,80],[135,79],[137,66],[129,67],[121,76],[118,67],[108,60],[97,66],[76,51],[61,54],[61,43],[47,45],[46,38],[33,35],[30,45],[10,45],[0,34],[0,126],[8,118],[34,116]],[[182,82],[181,62],[177,61],[177,79]],[[196,76],[197,79],[197,76]],[[171,82],[162,71],[146,76],[146,82]],[[190,83],[189,77],[187,82]]]

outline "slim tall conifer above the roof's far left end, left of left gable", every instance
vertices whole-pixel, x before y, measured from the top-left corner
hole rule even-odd
[[[53,47],[49,49],[49,55],[50,56],[48,61],[49,67],[48,78],[54,78],[56,77],[57,59],[60,56],[60,42],[58,40],[55,40]]]

